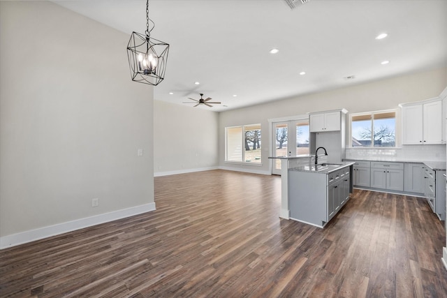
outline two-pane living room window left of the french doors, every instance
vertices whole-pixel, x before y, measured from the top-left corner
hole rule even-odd
[[[225,128],[225,161],[261,163],[261,124]]]

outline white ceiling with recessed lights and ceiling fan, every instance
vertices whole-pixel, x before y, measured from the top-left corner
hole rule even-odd
[[[129,38],[146,29],[145,0],[54,2]],[[192,106],[182,102],[203,93],[222,102],[196,107],[206,110],[447,66],[445,0],[311,0],[293,10],[284,0],[151,0],[149,18],[151,37],[170,44],[155,98]]]

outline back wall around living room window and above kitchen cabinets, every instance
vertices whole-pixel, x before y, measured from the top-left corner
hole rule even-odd
[[[447,68],[391,77],[366,84],[350,84],[332,91],[322,91],[295,98],[277,100],[219,114],[219,167],[269,174],[268,119],[291,117],[323,110],[345,108],[350,113],[396,109],[399,103],[439,96],[447,86]],[[261,124],[263,151],[262,166],[225,162],[225,127]],[[444,146],[445,147],[445,146]]]

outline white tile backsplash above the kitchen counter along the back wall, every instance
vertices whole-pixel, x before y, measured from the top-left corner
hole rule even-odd
[[[346,148],[346,159],[446,161],[446,145],[402,145],[402,148]]]

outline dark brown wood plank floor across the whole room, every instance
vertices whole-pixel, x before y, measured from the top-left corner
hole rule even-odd
[[[356,190],[320,229],[278,217],[280,184],[156,177],[156,211],[0,251],[0,297],[447,297],[425,200]]]

